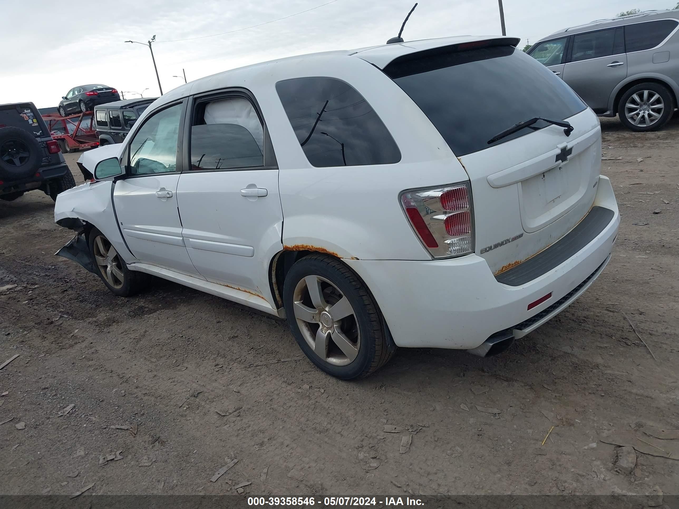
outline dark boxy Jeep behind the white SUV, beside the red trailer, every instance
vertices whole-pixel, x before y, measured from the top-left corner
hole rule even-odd
[[[94,107],[99,146],[122,143],[136,119],[156,98],[139,98],[107,102]]]

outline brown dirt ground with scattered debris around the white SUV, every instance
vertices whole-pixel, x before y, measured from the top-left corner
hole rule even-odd
[[[0,371],[0,493],[679,493],[676,459],[636,453],[627,473],[598,440],[679,428],[679,115],[602,129],[623,219],[585,295],[500,356],[401,349],[362,381],[321,373],[285,322],[229,301],[162,280],[115,297],[53,256],[72,232],[48,197],[0,202],[0,286],[18,285],[0,291],[0,362],[20,354]]]

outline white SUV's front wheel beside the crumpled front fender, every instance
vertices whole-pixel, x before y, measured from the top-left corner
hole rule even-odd
[[[128,269],[113,244],[96,228],[90,231],[89,245],[96,274],[115,295],[130,297],[149,286],[151,276]]]

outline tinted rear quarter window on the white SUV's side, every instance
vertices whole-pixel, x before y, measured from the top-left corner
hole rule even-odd
[[[401,151],[368,102],[348,83],[310,77],[276,83],[297,140],[318,168],[393,164]]]

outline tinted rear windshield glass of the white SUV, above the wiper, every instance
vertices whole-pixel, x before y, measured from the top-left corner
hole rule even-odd
[[[398,58],[384,72],[422,109],[458,157],[549,124],[539,121],[491,145],[514,124],[563,120],[587,108],[562,79],[512,46],[438,49]]]

